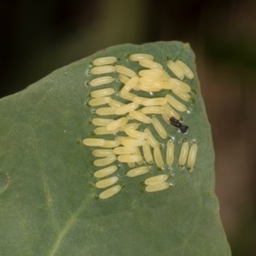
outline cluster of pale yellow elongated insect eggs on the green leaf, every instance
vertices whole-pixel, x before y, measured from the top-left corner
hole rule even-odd
[[[115,160],[127,163],[131,168],[126,173],[127,177],[136,177],[148,173],[150,166],[143,166],[144,159],[148,164],[155,163],[156,166],[162,168],[164,160],[160,152],[160,143],[153,136],[152,132],[145,128],[144,131],[137,131],[139,125],[152,124],[154,130],[162,139],[166,139],[167,133],[160,120],[156,117],[160,115],[162,119],[170,125],[170,118],[179,119],[177,113],[186,110],[182,102],[177,101],[171,94],[166,94],[165,97],[146,98],[140,97],[131,93],[131,90],[143,90],[146,92],[172,90],[172,92],[180,97],[183,101],[189,102],[190,87],[178,79],[183,79],[187,76],[189,79],[194,78],[191,72],[182,61],[167,61],[167,67],[170,68],[178,79],[171,78],[160,63],[154,61],[154,56],[148,54],[133,54],[129,56],[131,61],[138,61],[139,65],[148,69],[141,70],[138,75],[128,67],[115,65],[117,61],[114,56],[97,58],[93,61],[90,73],[101,75],[96,79],[90,81],[90,86],[97,87],[103,84],[110,84],[113,82],[113,77],[104,74],[117,72],[119,73],[119,80],[125,84],[119,91],[119,97],[130,101],[125,104],[119,102],[111,97],[115,91],[113,88],[104,88],[100,90],[93,90],[90,93],[92,99],[89,102],[91,107],[98,107],[108,104],[108,107],[97,108],[96,114],[99,118],[92,119],[93,125],[98,126],[94,133],[99,136],[113,135],[114,140],[105,140],[104,138],[85,138],[83,143],[90,147],[101,147],[92,151],[92,154],[100,159],[94,161],[95,166],[108,166],[94,173],[95,177],[104,179],[96,182],[96,188],[105,189],[112,185],[110,189],[104,190],[100,195],[100,199],[106,199],[112,195],[117,194],[121,186],[118,183],[119,177],[113,176],[105,178],[117,171],[117,166],[109,166]],[[103,76],[102,76],[103,75]],[[139,109],[139,106],[143,108]],[[174,110],[174,108],[176,110]],[[148,117],[147,114],[154,114],[153,118]],[[119,119],[106,119],[104,116],[116,115]],[[103,117],[103,118],[102,118]],[[131,122],[135,119],[137,122]],[[171,123],[172,124],[172,123]],[[187,126],[186,126],[187,127]],[[118,132],[125,132],[125,137],[118,136]],[[122,147],[119,147],[122,145]],[[143,149],[143,155],[139,148]],[[153,148],[153,154],[151,153]],[[197,145],[194,143],[189,149],[189,143],[184,142],[180,150],[178,164],[184,166],[187,161],[187,166],[191,168],[195,165]],[[166,144],[166,164],[172,166],[174,158],[174,143],[168,141]],[[135,167],[135,163],[139,167]],[[162,174],[147,178],[144,183],[147,192],[155,192],[167,189],[170,183],[166,182],[168,175]]]

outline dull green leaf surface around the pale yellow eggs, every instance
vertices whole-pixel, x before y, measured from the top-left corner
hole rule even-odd
[[[89,82],[97,77],[90,68],[97,57],[113,55],[117,64],[138,72],[142,67],[127,56],[140,52],[154,55],[172,76],[166,59],[181,60],[195,73],[195,79],[184,79],[193,89],[193,101],[184,102],[188,111],[180,113],[189,132],[177,132],[159,118],[175,143],[172,168],[165,165],[160,170],[152,165],[147,174],[126,177],[129,167],[119,163],[122,189],[101,200],[102,189],[95,187],[93,177],[99,169],[93,165],[93,148],[82,143],[85,137],[100,137],[92,132],[96,108],[88,105],[90,91],[96,90]],[[115,78],[114,90],[119,90],[123,85],[117,73],[110,75]],[[3,98],[0,119],[1,255],[230,255],[214,194],[211,131],[189,44],[159,42],[104,49]],[[167,140],[152,125],[148,127],[162,144],[164,156]],[[104,138],[113,139],[113,135]],[[198,144],[192,170],[177,164],[184,138]],[[145,192],[143,181],[161,173],[169,175],[173,186]]]

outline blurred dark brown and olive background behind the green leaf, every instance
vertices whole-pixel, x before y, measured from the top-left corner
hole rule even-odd
[[[189,42],[232,253],[256,255],[256,1],[0,1],[0,97],[115,44]]]

